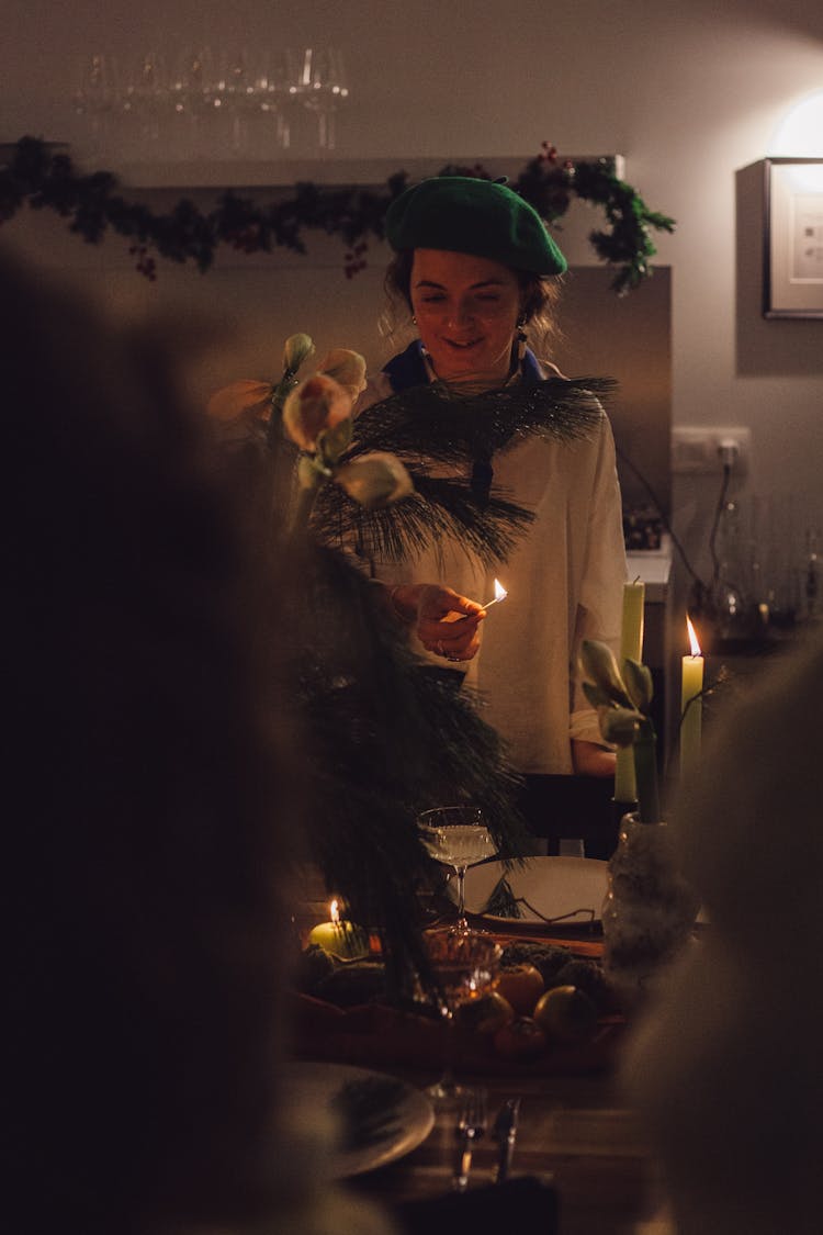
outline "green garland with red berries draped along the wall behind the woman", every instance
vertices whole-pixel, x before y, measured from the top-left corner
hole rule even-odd
[[[449,165],[440,174],[492,178],[480,165]],[[407,183],[405,172],[390,177],[383,189],[300,183],[290,196],[267,205],[230,189],[207,212],[183,198],[168,214],[157,214],[143,203],[127,201],[111,172],[79,174],[69,156],[52,143],[22,137],[0,165],[0,224],[28,205],[68,220],[69,230],[90,245],[100,243],[111,230],[131,241],[136,268],[151,280],[157,278],[157,257],[194,262],[205,273],[221,245],[244,253],[275,248],[305,253],[305,233],[320,231],[343,241],[343,268],[350,278],[366,263],[369,238],[383,240],[386,210]],[[616,268],[611,285],[618,295],[651,274],[656,252],[651,232],[675,228],[672,219],[649,210],[637,190],[616,175],[608,158],[561,161],[544,142],[540,153],[508,183],[549,225],[563,219],[575,198],[602,209],[606,226],[589,240],[598,258]]]

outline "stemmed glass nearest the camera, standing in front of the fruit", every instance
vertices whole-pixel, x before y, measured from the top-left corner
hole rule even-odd
[[[497,981],[502,948],[490,935],[473,930],[424,931],[423,946],[436,984],[437,1007],[448,1030],[443,1074],[426,1093],[438,1104],[449,1105],[466,1093],[454,1079],[454,1013],[460,1004],[480,999],[491,989]]]

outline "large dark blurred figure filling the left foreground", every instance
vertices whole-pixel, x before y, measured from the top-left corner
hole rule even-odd
[[[276,1126],[278,563],[163,351],[1,257],[0,414],[4,1226],[369,1231]]]

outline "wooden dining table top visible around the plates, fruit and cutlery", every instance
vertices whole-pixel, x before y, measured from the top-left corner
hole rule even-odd
[[[574,956],[600,958],[598,923],[491,924],[469,914],[470,925],[506,946],[517,940],[555,944]],[[374,1070],[424,1092],[442,1071],[436,1034],[443,1025],[369,1007],[321,1007],[304,999],[296,1052],[302,1060],[336,1061]],[[654,1146],[619,1083],[622,1044],[631,1016],[601,1018],[593,1040],[549,1050],[537,1060],[497,1057],[489,1041],[458,1045],[458,1081],[487,1095],[489,1119],[476,1140],[468,1186],[455,1191],[460,1152],[458,1105],[432,1103],[433,1123],[420,1144],[345,1181],[378,1200],[401,1235],[439,1229],[506,1230],[542,1235],[674,1235]],[[496,1113],[517,1103],[511,1170],[497,1178],[500,1145],[491,1132]]]

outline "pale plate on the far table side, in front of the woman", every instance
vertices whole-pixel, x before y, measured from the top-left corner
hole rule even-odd
[[[471,914],[482,914],[501,876],[521,902],[518,919],[485,914],[494,921],[556,920],[558,926],[577,926],[600,921],[608,863],[592,857],[531,857],[524,866],[515,865],[508,873],[502,862],[489,862],[466,871],[465,904]],[[457,895],[457,881],[449,882]]]

